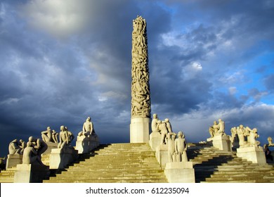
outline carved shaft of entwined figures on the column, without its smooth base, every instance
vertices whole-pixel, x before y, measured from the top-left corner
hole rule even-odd
[[[148,44],[145,19],[133,20],[131,117],[150,117]]]

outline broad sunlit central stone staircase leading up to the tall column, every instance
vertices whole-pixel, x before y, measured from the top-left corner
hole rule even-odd
[[[75,179],[77,177],[77,179]],[[148,144],[110,144],[83,155],[44,183],[155,183],[167,182],[155,152]]]

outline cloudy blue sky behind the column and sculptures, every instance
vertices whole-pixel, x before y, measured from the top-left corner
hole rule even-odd
[[[91,116],[101,143],[129,142],[132,20],[148,25],[152,113],[205,141],[274,137],[274,1],[0,1],[0,154],[13,139]]]

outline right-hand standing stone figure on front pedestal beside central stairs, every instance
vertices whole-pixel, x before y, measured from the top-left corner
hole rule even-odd
[[[185,141],[185,135],[183,132],[178,132],[178,138],[175,139],[175,153],[177,162],[188,161],[188,156],[186,155],[187,148],[188,144]]]

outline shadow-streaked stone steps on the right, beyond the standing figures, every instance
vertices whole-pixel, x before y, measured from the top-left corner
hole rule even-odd
[[[274,183],[274,166],[257,165],[236,152],[220,151],[207,144],[190,144],[188,159],[195,168],[195,182]]]

